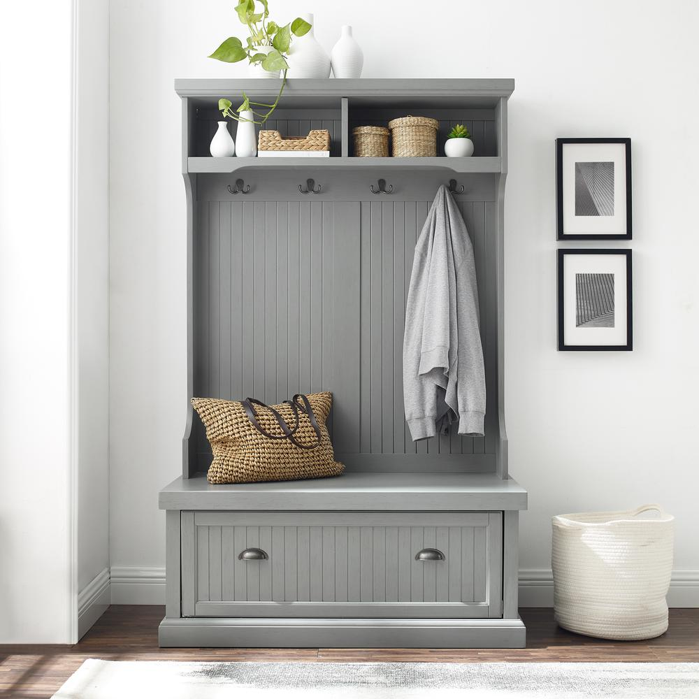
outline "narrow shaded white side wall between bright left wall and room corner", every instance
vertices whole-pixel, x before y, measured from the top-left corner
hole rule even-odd
[[[80,635],[108,604],[109,2],[77,2],[75,259]]]

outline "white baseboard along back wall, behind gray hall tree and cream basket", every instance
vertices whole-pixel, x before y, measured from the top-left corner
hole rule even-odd
[[[112,568],[113,605],[164,605],[165,568]],[[553,607],[554,577],[548,570],[519,571],[519,606]],[[699,570],[675,570],[670,607],[699,607]]]

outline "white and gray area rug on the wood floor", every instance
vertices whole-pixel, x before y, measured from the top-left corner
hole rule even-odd
[[[699,663],[88,660],[57,699],[697,699]]]

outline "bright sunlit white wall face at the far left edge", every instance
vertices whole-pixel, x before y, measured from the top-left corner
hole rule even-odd
[[[3,8],[0,643],[66,643],[75,626],[72,36],[70,0]]]

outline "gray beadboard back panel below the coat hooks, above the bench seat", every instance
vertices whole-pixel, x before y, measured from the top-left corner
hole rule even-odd
[[[288,175],[202,177],[194,224],[194,395],[278,403],[333,391],[338,459],[366,470],[494,469],[497,426],[496,179],[461,178],[456,196],[473,241],[487,375],[486,435],[413,442],[403,414],[403,329],[413,253],[440,182],[324,173],[321,193],[294,193]],[[247,181],[247,180],[246,180]],[[292,182],[292,184],[294,184]],[[276,192],[276,196],[275,196]],[[284,197],[282,198],[282,194]],[[196,470],[210,448],[194,419]]]

